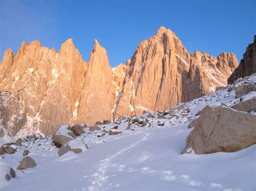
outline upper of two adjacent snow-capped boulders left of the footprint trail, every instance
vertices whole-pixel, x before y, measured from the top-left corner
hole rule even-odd
[[[59,129],[52,136],[52,142],[55,145],[61,147],[62,145],[68,143],[70,140],[75,139],[75,134],[71,131],[69,125],[61,125]]]

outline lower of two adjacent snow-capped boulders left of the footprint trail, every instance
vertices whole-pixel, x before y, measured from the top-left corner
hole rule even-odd
[[[59,148],[58,155],[59,157],[69,151],[74,153],[80,153],[88,149],[87,145],[80,141],[80,140],[71,140],[70,142],[66,143],[62,147]]]

